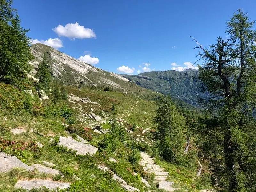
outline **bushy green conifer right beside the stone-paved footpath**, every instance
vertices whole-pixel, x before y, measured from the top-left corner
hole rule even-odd
[[[170,96],[160,98],[156,108],[154,122],[157,127],[153,135],[156,148],[165,160],[174,161],[182,147],[182,130],[178,111]]]

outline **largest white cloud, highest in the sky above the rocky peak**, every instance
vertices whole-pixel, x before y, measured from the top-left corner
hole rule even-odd
[[[67,25],[58,25],[56,28],[52,29],[59,36],[65,36],[71,39],[84,39],[96,37],[96,34],[92,29],[85,28],[79,23],[68,23]]]

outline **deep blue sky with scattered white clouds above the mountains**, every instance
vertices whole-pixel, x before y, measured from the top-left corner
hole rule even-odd
[[[196,43],[225,36],[240,8],[256,20],[255,0],[14,0],[33,43],[116,73],[184,70],[194,64]]]

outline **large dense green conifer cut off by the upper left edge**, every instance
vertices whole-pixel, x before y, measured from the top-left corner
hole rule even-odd
[[[0,80],[18,84],[31,70],[29,30],[20,26],[20,19],[11,8],[11,0],[0,0]]]

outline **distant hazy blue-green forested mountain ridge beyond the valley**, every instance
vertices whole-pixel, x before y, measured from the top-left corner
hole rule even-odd
[[[155,90],[163,94],[168,94],[180,98],[190,104],[196,104],[196,95],[203,96],[196,91],[197,83],[193,80],[198,75],[195,69],[180,71],[151,71],[140,73],[139,75],[122,75],[130,81]]]

